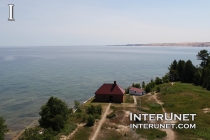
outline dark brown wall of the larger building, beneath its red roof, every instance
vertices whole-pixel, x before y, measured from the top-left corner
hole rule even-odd
[[[95,100],[97,102],[116,102],[123,103],[123,94],[122,95],[113,95],[113,94],[96,94]]]

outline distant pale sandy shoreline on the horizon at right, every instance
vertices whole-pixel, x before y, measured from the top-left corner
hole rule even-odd
[[[180,46],[180,47],[210,47],[210,42],[183,42],[183,43],[148,43],[107,46]]]

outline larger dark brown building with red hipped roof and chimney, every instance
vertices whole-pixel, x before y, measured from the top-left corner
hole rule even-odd
[[[125,90],[116,81],[112,84],[105,83],[95,92],[97,102],[122,103]]]

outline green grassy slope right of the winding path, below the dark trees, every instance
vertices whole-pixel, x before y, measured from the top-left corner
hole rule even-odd
[[[159,85],[161,92],[158,94],[164,103],[163,107],[170,113],[197,114],[195,121],[187,122],[196,124],[196,129],[174,129],[178,139],[209,139],[210,138],[210,113],[204,113],[203,108],[210,108],[210,92],[202,87],[186,83]],[[186,123],[186,122],[179,122]]]

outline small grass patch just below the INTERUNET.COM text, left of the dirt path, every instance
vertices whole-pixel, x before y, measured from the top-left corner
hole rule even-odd
[[[167,134],[165,131],[158,129],[136,129],[136,133],[148,140],[155,140],[157,138],[164,138]]]

